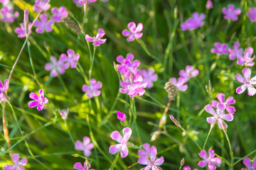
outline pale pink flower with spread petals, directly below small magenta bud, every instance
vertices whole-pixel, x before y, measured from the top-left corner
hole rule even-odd
[[[115,130],[111,133],[110,137],[112,140],[119,142],[119,144],[111,145],[109,148],[110,154],[116,154],[121,150],[121,157],[127,157],[128,155],[128,147],[127,147],[127,141],[129,140],[129,137],[132,135],[132,129],[131,128],[123,128],[123,137],[120,135],[120,133]]]

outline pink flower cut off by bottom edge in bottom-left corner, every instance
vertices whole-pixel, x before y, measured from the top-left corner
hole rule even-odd
[[[19,158],[20,158],[20,157],[19,157],[19,154],[13,154],[13,155],[11,156],[11,158],[14,160],[14,164],[12,164],[12,165],[6,164],[6,165],[3,167],[4,170],[15,170],[15,169],[22,170],[22,169],[25,169],[25,168],[22,167],[22,166],[26,165],[27,162],[28,162],[28,159],[26,159],[26,157],[23,157],[23,158],[21,159],[21,161],[19,161]]]

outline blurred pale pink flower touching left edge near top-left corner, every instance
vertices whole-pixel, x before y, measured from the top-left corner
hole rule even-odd
[[[14,8],[11,6],[4,6],[0,10],[0,21],[4,23],[12,23],[18,16],[18,11],[14,12]]]

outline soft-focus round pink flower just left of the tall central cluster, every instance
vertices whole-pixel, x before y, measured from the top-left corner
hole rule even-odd
[[[100,96],[101,91],[99,91],[98,89],[102,88],[102,82],[100,81],[96,81],[95,79],[90,79],[90,86],[87,86],[86,84],[84,84],[82,86],[82,91],[86,92],[85,96],[87,96],[87,98],[92,98],[93,96],[97,97]]]

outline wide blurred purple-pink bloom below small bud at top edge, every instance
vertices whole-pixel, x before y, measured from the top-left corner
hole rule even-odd
[[[192,18],[188,18],[187,21],[181,23],[181,30],[195,30],[196,28],[204,25],[204,19],[206,15],[204,13],[199,14],[198,12],[192,13]]]

